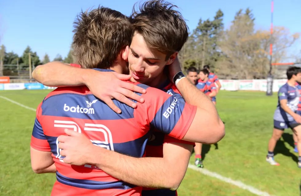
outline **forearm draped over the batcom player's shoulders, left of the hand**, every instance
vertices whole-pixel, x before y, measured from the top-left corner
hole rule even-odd
[[[35,80],[46,86],[80,86],[84,85],[86,69],[76,68],[54,61],[37,66],[32,73]]]

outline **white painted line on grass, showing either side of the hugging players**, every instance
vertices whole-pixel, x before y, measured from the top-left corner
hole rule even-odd
[[[20,103],[18,103],[18,102],[16,102],[16,101],[11,100],[11,99],[9,99],[9,98],[6,98],[6,97],[4,97],[4,96],[0,96],[0,98],[5,99],[5,100],[7,100],[7,101],[10,101],[10,102],[12,102],[12,103],[14,103],[14,104],[17,104],[18,106],[24,107],[24,108],[26,108],[26,109],[29,109],[29,110],[32,110],[32,111],[36,111],[36,109],[34,109],[34,108],[32,108],[32,107],[25,106],[25,105],[23,105],[23,104],[20,104]],[[202,174],[204,174],[204,175],[208,175],[208,176],[210,176],[210,177],[217,178],[217,179],[219,179],[219,180],[221,180],[221,181],[224,181],[225,183],[229,183],[229,184],[235,185],[235,186],[237,186],[237,187],[239,187],[239,188],[241,188],[241,189],[248,190],[249,192],[251,192],[251,193],[253,193],[253,194],[256,194],[256,195],[259,195],[259,196],[272,196],[272,195],[268,194],[267,192],[263,192],[263,191],[261,191],[261,190],[258,190],[258,189],[256,189],[256,188],[254,188],[254,187],[252,187],[252,186],[249,186],[249,185],[246,185],[246,184],[244,184],[244,183],[242,183],[242,182],[240,182],[240,181],[237,181],[237,180],[233,180],[233,179],[224,177],[224,176],[222,176],[222,175],[219,175],[218,173],[209,171],[209,170],[207,170],[207,169],[205,169],[205,168],[198,168],[198,167],[196,167],[195,165],[192,165],[192,164],[189,164],[189,165],[188,165],[188,168],[193,169],[193,170],[196,170],[196,171],[198,171],[198,172],[200,172],[200,173],[202,173]]]

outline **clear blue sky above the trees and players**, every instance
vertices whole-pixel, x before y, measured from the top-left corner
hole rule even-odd
[[[72,42],[73,21],[81,9],[106,6],[129,15],[137,0],[0,0],[0,45],[6,51],[22,55],[29,45],[42,60],[45,53],[50,60],[57,54],[67,56]],[[212,18],[218,9],[224,12],[225,27],[229,27],[235,13],[249,7],[256,18],[256,28],[269,29],[271,0],[173,0],[180,8],[192,31],[200,18]],[[301,0],[274,0],[274,26],[285,26],[291,33],[301,32]],[[293,51],[300,51],[300,42]],[[297,53],[297,52],[295,52]]]

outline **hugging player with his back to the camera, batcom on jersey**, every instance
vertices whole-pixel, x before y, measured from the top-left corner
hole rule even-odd
[[[107,67],[109,65],[112,70],[119,72],[127,68],[127,56],[124,54],[128,50],[126,46],[130,43],[132,29],[129,28],[130,24],[127,18],[115,10],[100,7],[88,14],[81,13],[81,16],[78,17],[79,21],[76,23],[79,26],[77,26],[74,36],[74,43],[76,43],[73,43],[74,50],[79,55],[78,47],[81,47],[85,40],[91,41],[88,37],[82,36],[82,33],[94,33],[94,27],[99,25],[84,25],[85,20],[92,17],[93,21],[96,16],[97,21],[94,21],[98,23],[102,16],[106,19],[110,14],[109,28],[113,28],[114,24],[117,25],[117,28],[120,28],[121,25],[122,30],[127,32],[121,33],[122,35],[119,36],[104,37],[101,44],[107,46],[107,42],[112,43],[111,39],[113,39],[119,44],[119,50],[115,52],[100,48],[99,51],[95,51],[97,48],[89,48],[90,45],[84,45],[85,50],[82,50],[84,53],[89,54],[89,50],[92,50],[103,58],[103,60],[100,58],[92,61],[89,58],[83,60],[78,56],[78,60],[83,63],[85,68],[97,67],[100,64]],[[113,23],[113,17],[118,22]],[[121,21],[128,26],[128,30]],[[80,31],[81,27],[87,28],[86,31]],[[102,27],[107,29],[105,23],[101,24]],[[101,31],[101,28],[98,30]],[[114,33],[116,28],[111,30],[113,30],[111,33]],[[78,33],[80,33],[80,37],[77,37]],[[116,40],[116,37],[120,40]],[[93,38],[97,37],[92,36]],[[117,43],[112,47],[118,47]],[[161,90],[136,84],[147,89],[147,93],[142,95],[145,102],[137,103],[137,107],[133,109],[113,100],[122,109],[121,114],[112,111],[108,105],[95,97],[87,86],[57,88],[45,97],[37,108],[31,138],[31,158],[35,171],[42,173],[45,168],[52,168],[52,171],[56,171],[57,181],[53,186],[52,195],[140,195],[142,190],[142,187],[108,175],[95,164],[65,163],[65,148],[62,150],[59,147],[62,144],[59,142],[58,136],[64,135],[66,128],[86,136],[90,140],[89,143],[98,149],[108,149],[105,151],[115,151],[131,157],[144,156],[151,128],[162,130],[165,134],[178,139],[187,136],[186,132],[194,119],[197,107],[178,101],[177,97]],[[43,156],[40,156],[42,154]],[[43,160],[44,158],[45,160]],[[45,162],[47,162],[46,165]],[[36,167],[35,164],[38,166]]]

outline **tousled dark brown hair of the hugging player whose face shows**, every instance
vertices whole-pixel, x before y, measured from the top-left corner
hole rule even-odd
[[[188,27],[178,8],[169,2],[152,0],[139,5],[139,12],[133,11],[130,17],[133,34],[138,32],[150,49],[166,54],[166,59],[180,51],[188,39]]]

